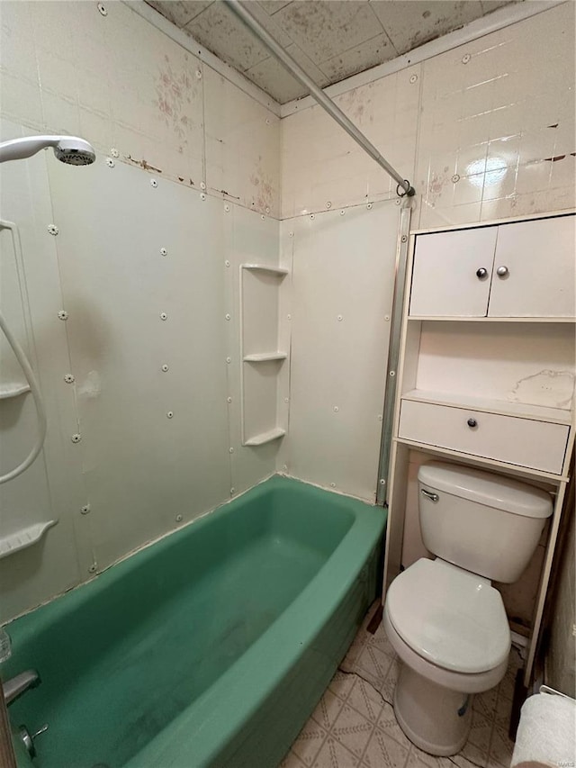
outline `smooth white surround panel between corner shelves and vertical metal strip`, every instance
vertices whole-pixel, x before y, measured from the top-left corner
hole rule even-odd
[[[400,206],[284,221],[293,231],[290,474],[374,501]]]

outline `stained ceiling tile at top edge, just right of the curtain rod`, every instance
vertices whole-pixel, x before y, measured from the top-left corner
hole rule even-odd
[[[295,2],[278,11],[274,19],[316,64],[383,32],[367,2]]]

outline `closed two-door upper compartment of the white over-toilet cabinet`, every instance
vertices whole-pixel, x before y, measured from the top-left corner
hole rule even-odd
[[[576,315],[574,217],[421,235],[411,317]]]

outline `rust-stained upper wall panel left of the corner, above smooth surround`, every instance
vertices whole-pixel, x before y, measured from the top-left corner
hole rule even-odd
[[[206,184],[212,193],[278,217],[279,118],[212,69],[205,69],[204,87]]]

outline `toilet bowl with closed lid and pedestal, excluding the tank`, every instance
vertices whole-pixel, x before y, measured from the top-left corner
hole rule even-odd
[[[498,685],[510,649],[500,592],[444,561],[421,559],[388,592],[384,630],[401,659],[394,712],[425,752],[459,752],[470,732],[474,693]]]

